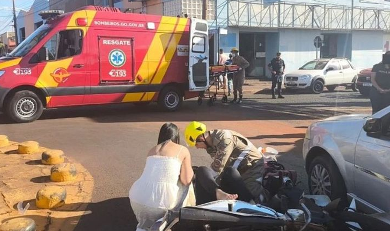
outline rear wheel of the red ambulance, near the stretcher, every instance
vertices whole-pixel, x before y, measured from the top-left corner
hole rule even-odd
[[[158,96],[158,107],[165,112],[178,110],[183,102],[183,95],[176,86],[165,87]]]

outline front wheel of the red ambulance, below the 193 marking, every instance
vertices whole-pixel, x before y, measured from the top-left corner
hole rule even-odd
[[[15,122],[32,122],[41,117],[41,99],[32,91],[18,91],[7,102],[7,115]]]

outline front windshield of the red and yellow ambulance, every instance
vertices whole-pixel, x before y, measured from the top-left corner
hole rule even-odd
[[[10,57],[23,57],[31,49],[37,45],[39,41],[41,41],[49,32],[51,26],[48,24],[44,24],[40,26],[34,33],[27,37],[23,42],[21,42],[18,47],[16,47],[8,56]]]

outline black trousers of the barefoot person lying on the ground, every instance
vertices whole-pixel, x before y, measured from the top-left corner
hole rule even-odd
[[[246,188],[241,174],[236,168],[225,168],[220,176],[221,183],[217,184],[214,172],[207,167],[199,167],[195,173],[195,198],[197,205],[216,201],[216,189],[226,193],[238,194],[238,199],[249,202],[253,199],[252,193]]]

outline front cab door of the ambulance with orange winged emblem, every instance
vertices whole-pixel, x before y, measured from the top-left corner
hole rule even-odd
[[[48,92],[48,107],[83,103],[87,75],[86,47],[83,30],[69,29],[58,31],[40,48],[37,86]]]

